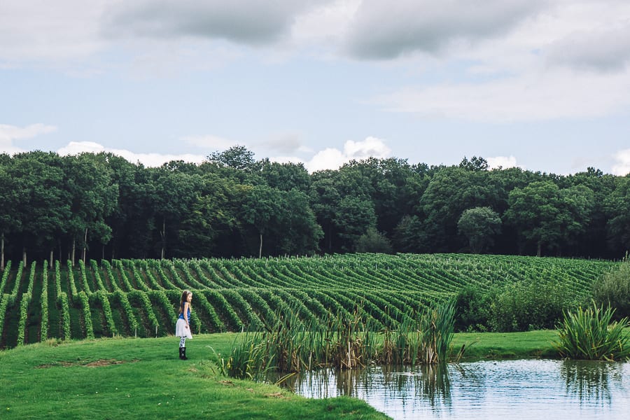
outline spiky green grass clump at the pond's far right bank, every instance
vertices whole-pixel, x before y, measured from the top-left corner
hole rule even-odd
[[[554,346],[562,357],[582,360],[630,359],[628,318],[610,322],[615,309],[591,307],[566,311],[559,325],[560,339]]]

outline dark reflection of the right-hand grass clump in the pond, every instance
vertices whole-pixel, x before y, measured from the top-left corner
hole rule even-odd
[[[615,362],[592,360],[564,360],[560,367],[566,381],[568,395],[575,395],[580,402],[610,405],[610,379],[621,384],[622,365]]]

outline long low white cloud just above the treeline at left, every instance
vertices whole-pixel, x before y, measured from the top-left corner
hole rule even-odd
[[[106,148],[101,144],[92,141],[71,141],[67,146],[60,148],[59,155],[78,155],[79,153],[100,153],[107,152],[125,158],[129,162],[140,162],[146,167],[159,167],[172,160],[183,160],[200,164],[204,161],[204,156],[184,153],[181,155],[161,154],[161,153],[135,153],[125,149]]]

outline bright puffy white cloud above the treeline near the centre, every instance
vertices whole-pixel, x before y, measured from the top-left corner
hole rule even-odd
[[[384,144],[383,140],[376,137],[367,137],[363,141],[346,141],[343,151],[339,151],[337,148],[325,148],[306,162],[304,167],[309,172],[323,169],[339,169],[339,167],[351,160],[388,158],[390,155],[391,150]]]

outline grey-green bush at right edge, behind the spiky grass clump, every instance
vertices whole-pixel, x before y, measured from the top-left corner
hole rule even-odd
[[[630,316],[630,260],[624,262],[611,272],[601,276],[593,288],[593,299],[599,306],[615,309],[613,319]]]

